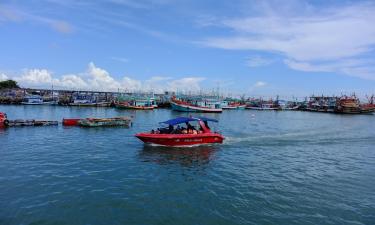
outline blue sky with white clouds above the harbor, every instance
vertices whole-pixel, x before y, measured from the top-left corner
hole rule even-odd
[[[375,1],[2,0],[0,80],[100,91],[375,93]]]

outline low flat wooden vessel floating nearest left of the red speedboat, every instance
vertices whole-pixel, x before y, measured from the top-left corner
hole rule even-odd
[[[131,118],[116,117],[116,118],[86,118],[78,120],[78,125],[81,127],[117,127],[131,125]]]

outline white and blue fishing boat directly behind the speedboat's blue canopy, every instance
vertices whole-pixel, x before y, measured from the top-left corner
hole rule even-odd
[[[171,100],[172,109],[179,112],[202,112],[202,113],[221,113],[220,102],[213,99],[194,99],[185,100],[172,97]]]

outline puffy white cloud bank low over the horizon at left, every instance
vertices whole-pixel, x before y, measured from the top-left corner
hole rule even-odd
[[[185,77],[173,79],[169,76],[153,76],[141,81],[129,76],[115,79],[108,71],[97,67],[93,62],[88,64],[86,72],[78,74],[65,74],[59,78],[47,69],[23,70],[20,76],[9,77],[0,74],[0,80],[14,79],[23,87],[51,88],[67,90],[89,90],[89,91],[153,91],[162,93],[164,91],[198,91],[203,77]]]

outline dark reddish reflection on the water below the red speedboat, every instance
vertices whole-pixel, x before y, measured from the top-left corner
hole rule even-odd
[[[144,145],[140,158],[144,162],[161,165],[178,163],[181,166],[196,167],[208,164],[218,149],[217,145],[179,148]]]

